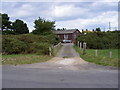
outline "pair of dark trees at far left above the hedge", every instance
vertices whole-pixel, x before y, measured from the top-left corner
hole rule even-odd
[[[0,14],[2,17],[2,34],[26,34],[29,33],[27,24],[22,20],[17,19],[15,22],[9,21],[8,14]]]

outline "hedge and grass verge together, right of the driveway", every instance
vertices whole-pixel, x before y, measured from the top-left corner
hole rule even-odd
[[[83,31],[76,41],[82,44],[86,42],[86,54],[83,55],[83,49],[74,46],[75,50],[84,60],[100,65],[120,66],[119,50],[120,50],[120,31],[103,32],[97,29],[92,32]],[[96,55],[97,50],[97,55]],[[110,56],[110,52],[112,55]]]

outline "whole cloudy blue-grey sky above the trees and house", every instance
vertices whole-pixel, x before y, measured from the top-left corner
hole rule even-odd
[[[107,30],[109,22],[118,27],[117,2],[2,2],[2,13],[23,20],[30,32],[38,17],[56,21],[56,28]]]

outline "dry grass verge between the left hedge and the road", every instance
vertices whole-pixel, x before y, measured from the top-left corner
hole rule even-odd
[[[45,62],[52,58],[48,55],[37,55],[37,54],[13,54],[13,55],[2,55],[3,65],[18,65],[18,64],[32,64]]]

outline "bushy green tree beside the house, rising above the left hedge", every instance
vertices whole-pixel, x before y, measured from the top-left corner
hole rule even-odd
[[[51,33],[51,30],[54,30],[55,28],[55,22],[48,21],[43,18],[39,18],[38,20],[35,20],[35,30],[33,30],[33,34],[49,34]]]

